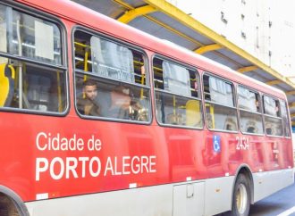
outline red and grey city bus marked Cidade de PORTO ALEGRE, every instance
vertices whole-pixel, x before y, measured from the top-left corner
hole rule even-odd
[[[294,181],[282,91],[71,1],[1,1],[0,131],[5,216],[241,216]]]

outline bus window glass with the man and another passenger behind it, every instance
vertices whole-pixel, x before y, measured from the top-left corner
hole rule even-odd
[[[74,33],[74,46],[78,112],[84,116],[148,122],[150,99],[144,55],[80,30]],[[93,99],[85,91],[89,82],[97,88]],[[83,112],[91,107],[97,107],[99,112]]]

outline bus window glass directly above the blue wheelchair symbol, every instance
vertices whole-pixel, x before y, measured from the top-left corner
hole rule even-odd
[[[238,131],[232,83],[204,75],[206,125],[208,129]]]

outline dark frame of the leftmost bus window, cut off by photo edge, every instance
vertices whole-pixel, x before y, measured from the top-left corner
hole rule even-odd
[[[16,10],[18,12],[30,15],[32,17],[36,17],[38,19],[41,19],[43,21],[51,22],[52,24],[55,24],[55,26],[60,30],[61,34],[61,54],[62,54],[62,64],[54,64],[49,62],[40,62],[38,60],[26,57],[26,56],[20,56],[16,54],[9,54],[0,52],[0,57],[13,59],[20,62],[29,62],[32,64],[37,64],[41,67],[46,67],[49,69],[56,69],[60,70],[64,74],[64,99],[65,99],[65,106],[63,112],[44,112],[44,111],[36,111],[32,109],[20,109],[20,108],[14,108],[14,107],[0,107],[0,112],[13,112],[13,113],[24,113],[24,114],[36,114],[36,115],[44,115],[44,116],[66,116],[70,112],[71,108],[71,100],[70,100],[70,90],[69,90],[69,55],[68,55],[68,41],[67,41],[67,35],[68,32],[66,30],[66,26],[63,23],[63,21],[52,15],[49,12],[44,12],[42,9],[39,8],[33,8],[29,7],[25,4],[20,4],[17,2],[8,2],[4,0],[0,4],[3,4],[4,6],[11,7],[13,10]]]

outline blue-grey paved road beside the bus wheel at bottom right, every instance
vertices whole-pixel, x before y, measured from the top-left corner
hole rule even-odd
[[[295,216],[295,184],[251,205],[249,216]]]

